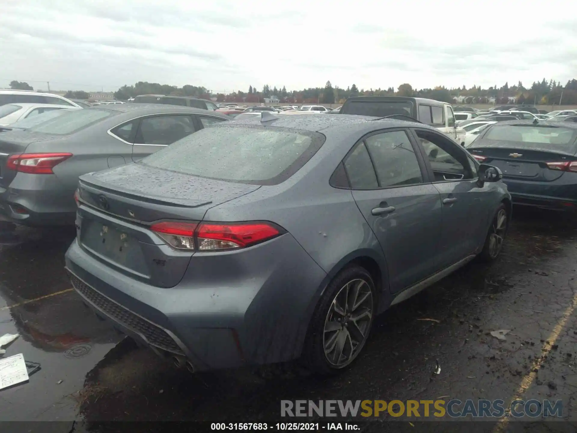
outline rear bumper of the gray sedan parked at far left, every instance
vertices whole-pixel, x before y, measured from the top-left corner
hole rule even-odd
[[[27,226],[73,225],[74,191],[0,187],[0,213],[9,221]]]

